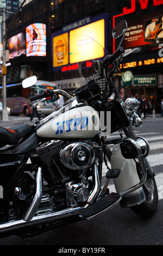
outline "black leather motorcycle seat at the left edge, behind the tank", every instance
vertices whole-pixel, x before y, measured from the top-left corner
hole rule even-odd
[[[0,127],[0,148],[5,145],[14,145],[24,136],[32,131],[32,126],[21,124],[11,127],[10,129]]]

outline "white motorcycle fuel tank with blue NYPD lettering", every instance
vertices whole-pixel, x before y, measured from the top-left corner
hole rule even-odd
[[[99,115],[90,106],[67,106],[47,117],[37,129],[37,136],[44,138],[91,138],[100,129]],[[50,117],[50,118],[49,118]]]

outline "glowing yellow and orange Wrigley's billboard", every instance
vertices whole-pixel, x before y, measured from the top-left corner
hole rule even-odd
[[[104,56],[103,48],[109,47],[107,40],[107,14],[85,17],[63,27],[52,34],[52,71],[54,68],[62,71],[78,69],[79,62],[85,62],[85,67],[89,68],[92,65],[89,60]]]

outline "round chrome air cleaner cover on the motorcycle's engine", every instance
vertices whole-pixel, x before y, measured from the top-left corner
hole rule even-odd
[[[82,142],[68,144],[60,150],[59,155],[61,163],[71,169],[87,168],[95,160],[93,148]]]

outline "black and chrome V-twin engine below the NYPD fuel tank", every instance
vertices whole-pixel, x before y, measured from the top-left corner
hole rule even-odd
[[[101,147],[90,140],[38,145],[31,161],[41,163],[46,185],[36,214],[86,204],[93,187],[91,165],[100,156]]]

